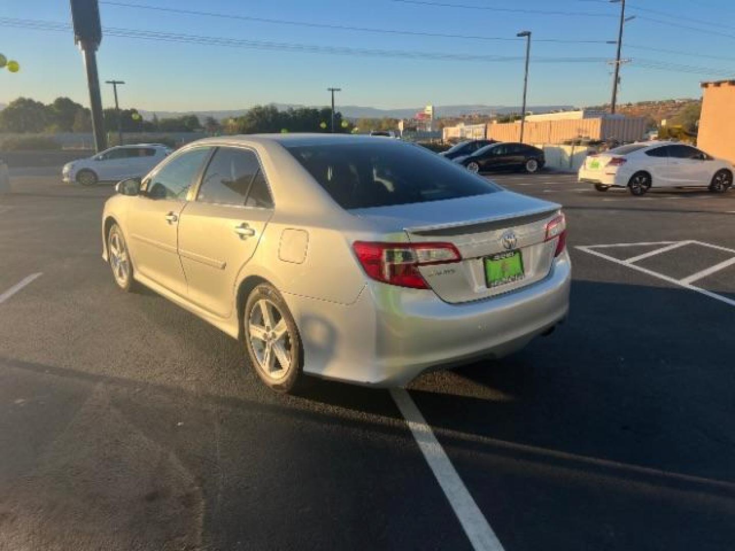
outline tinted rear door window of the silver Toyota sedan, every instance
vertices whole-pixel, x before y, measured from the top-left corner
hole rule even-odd
[[[197,201],[223,205],[245,205],[260,165],[252,151],[219,148],[201,181]]]

